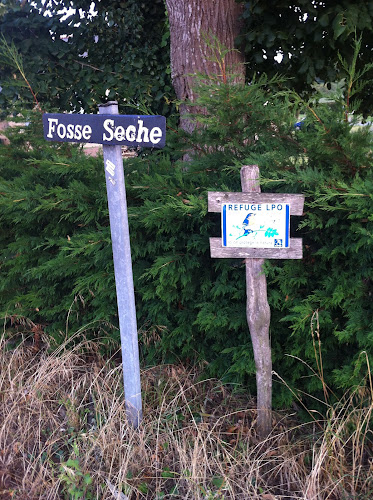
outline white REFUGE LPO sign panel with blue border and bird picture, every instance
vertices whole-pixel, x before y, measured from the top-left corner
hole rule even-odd
[[[290,206],[285,203],[222,203],[222,246],[289,248]]]

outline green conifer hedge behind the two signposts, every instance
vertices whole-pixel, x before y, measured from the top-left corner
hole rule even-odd
[[[207,114],[194,119],[204,126],[169,131],[165,150],[125,160],[125,172],[144,362],[203,360],[208,374],[252,390],[244,262],[210,258],[220,217],[207,212],[207,191],[240,191],[241,166],[258,164],[262,191],[305,194],[304,216],[292,217],[303,260],[265,267],[284,405],[361,382],[373,360],[373,177],[369,127],[352,130],[338,103],[269,92],[280,83],[203,84]],[[83,327],[118,341],[102,158],[45,142],[39,118],[11,141],[0,146],[6,324],[27,318],[59,342]]]

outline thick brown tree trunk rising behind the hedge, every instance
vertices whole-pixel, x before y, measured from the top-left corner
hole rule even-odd
[[[204,35],[216,36],[227,49],[234,48],[240,31],[240,15],[243,4],[235,0],[166,0],[170,22],[171,75],[176,96],[180,101],[194,101],[194,76],[237,74],[236,81],[244,81],[244,58],[240,52],[230,51],[225,57],[224,67],[212,61],[211,47],[206,45]],[[180,106],[180,126],[191,132],[194,125],[183,117],[189,112],[186,104]]]

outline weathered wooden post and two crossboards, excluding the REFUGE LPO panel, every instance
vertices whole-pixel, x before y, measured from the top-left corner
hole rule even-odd
[[[261,193],[257,165],[241,169],[242,193],[209,192],[209,212],[221,212],[222,204],[285,204],[290,215],[302,215],[304,196]],[[241,205],[242,206],[242,205]],[[265,439],[272,428],[272,355],[269,338],[270,308],[267,280],[262,271],[264,258],[301,259],[302,240],[290,238],[286,248],[255,248],[223,246],[221,238],[210,238],[211,257],[244,258],[246,262],[246,315],[253,344],[257,385],[257,432]]]

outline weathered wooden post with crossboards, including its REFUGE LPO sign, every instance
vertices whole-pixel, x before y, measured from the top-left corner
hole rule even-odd
[[[241,169],[242,193],[209,192],[208,211],[222,214],[222,238],[210,238],[213,258],[246,262],[246,315],[253,344],[257,385],[257,432],[272,428],[270,308],[264,259],[301,259],[302,240],[290,238],[290,216],[302,215],[304,196],[261,193],[257,165]]]

